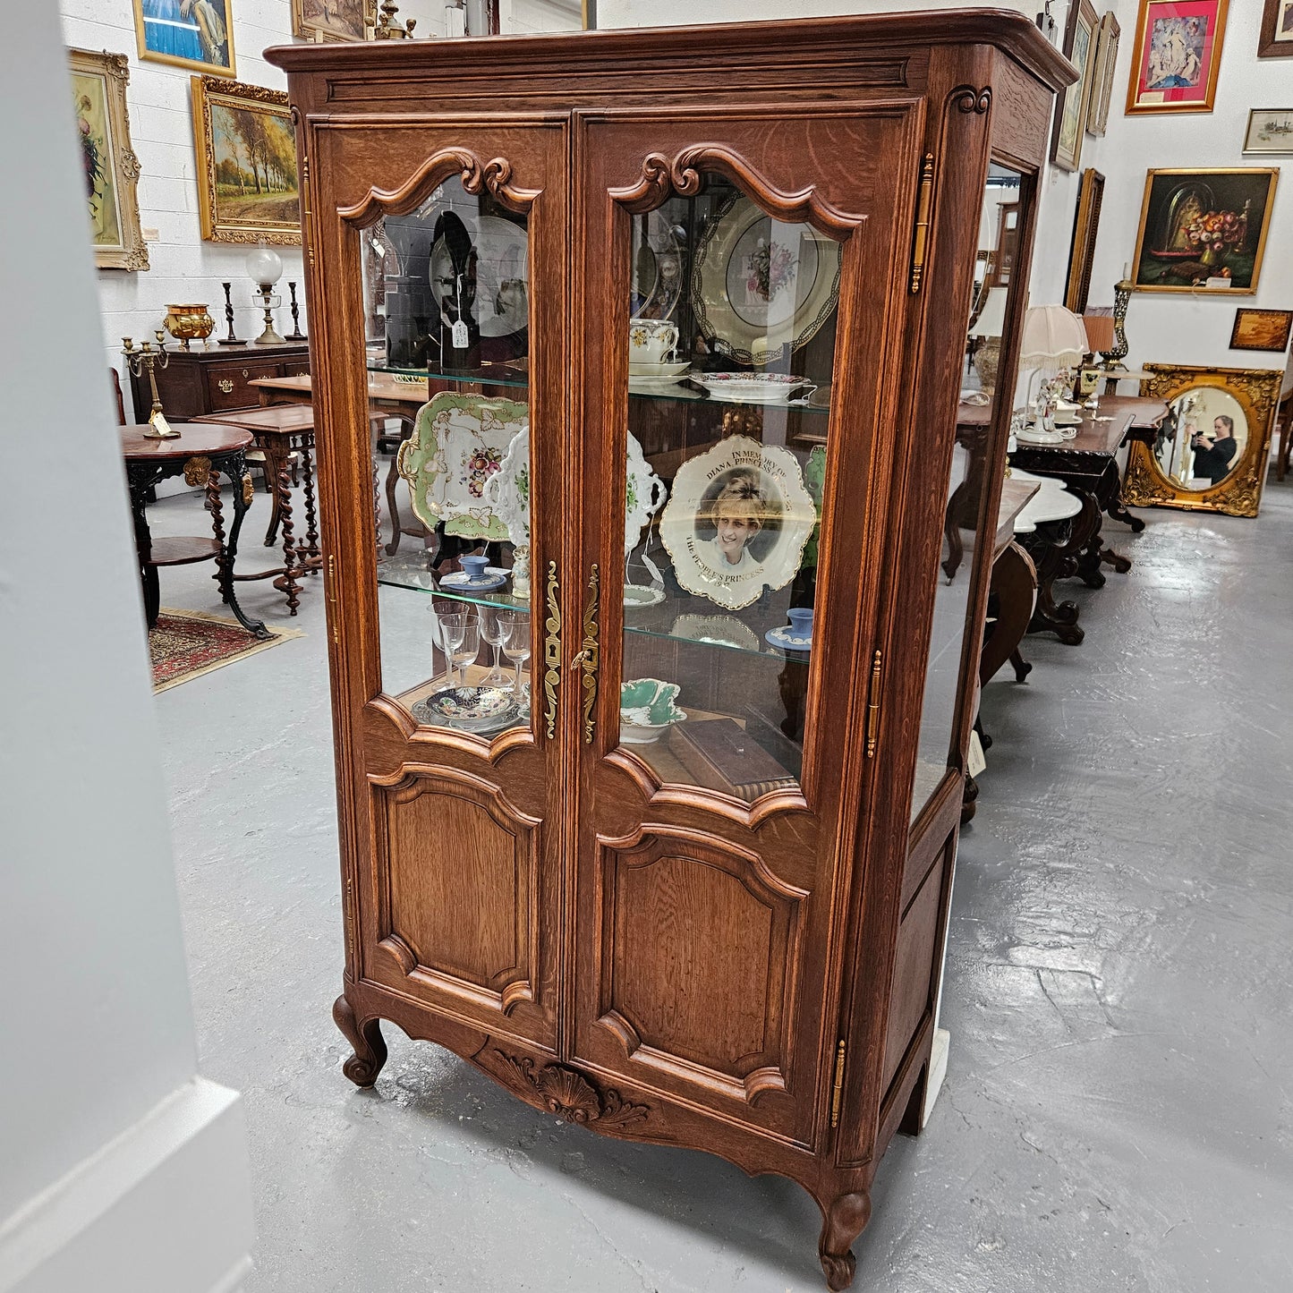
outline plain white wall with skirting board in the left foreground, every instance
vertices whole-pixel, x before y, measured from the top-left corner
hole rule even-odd
[[[197,1077],[75,141],[56,10],[0,6],[0,454],[26,481],[0,508],[0,1289],[181,1293],[246,1256],[246,1139],[234,1093]],[[158,1274],[199,1235],[182,1279]]]

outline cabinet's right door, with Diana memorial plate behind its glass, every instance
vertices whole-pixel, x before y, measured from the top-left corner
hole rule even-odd
[[[881,666],[918,100],[577,114],[577,1060],[813,1144]]]

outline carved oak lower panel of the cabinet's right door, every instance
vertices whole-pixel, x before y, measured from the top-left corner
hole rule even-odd
[[[753,855],[662,835],[604,843],[600,879],[597,1023],[625,1055],[750,1103],[785,1091],[807,895]]]

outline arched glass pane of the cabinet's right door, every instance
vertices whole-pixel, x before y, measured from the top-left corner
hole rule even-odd
[[[803,765],[840,244],[712,173],[631,239],[619,745],[749,802]]]

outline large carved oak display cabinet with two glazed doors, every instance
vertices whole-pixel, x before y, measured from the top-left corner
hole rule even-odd
[[[931,1085],[1009,431],[1005,401],[956,442],[979,235],[1007,184],[1009,392],[1072,69],[994,12],[266,57],[347,1076],[389,1020],[569,1121],[781,1173],[843,1288]],[[429,397],[398,557],[370,367]]]

